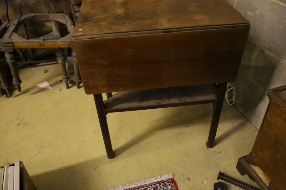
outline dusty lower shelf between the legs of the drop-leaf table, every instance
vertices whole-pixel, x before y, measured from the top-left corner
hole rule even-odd
[[[105,113],[214,103],[214,84],[118,92],[104,101]]]

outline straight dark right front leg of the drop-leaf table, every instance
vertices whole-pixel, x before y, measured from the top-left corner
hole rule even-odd
[[[212,122],[210,123],[210,132],[208,134],[207,148],[212,148],[215,145],[215,136],[217,134],[217,126],[219,125],[219,118],[221,117],[221,109],[223,108],[223,100],[225,99],[225,92],[227,83],[219,83],[216,93],[217,102],[213,104]]]

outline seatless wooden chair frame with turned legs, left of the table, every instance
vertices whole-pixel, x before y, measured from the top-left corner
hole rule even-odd
[[[0,0],[1,4],[5,4],[4,0]],[[12,75],[13,75],[13,84],[16,85],[18,91],[21,91],[21,79],[18,74],[17,66],[16,66],[16,56],[14,54],[14,49],[33,49],[33,48],[55,48],[55,54],[57,56],[57,60],[59,62],[59,66],[62,73],[62,81],[65,83],[66,88],[69,88],[68,81],[69,77],[67,75],[66,67],[65,67],[65,57],[63,55],[62,48],[72,48],[72,56],[74,62],[74,70],[75,70],[75,79],[77,88],[80,87],[81,77],[78,69],[78,63],[76,59],[76,54],[74,53],[74,48],[72,45],[72,33],[74,31],[74,24],[72,23],[69,17],[69,9],[64,0],[61,0],[63,5],[64,14],[55,14],[49,6],[49,2],[46,0],[43,1],[44,5],[47,8],[47,14],[41,13],[21,13],[21,6],[29,6],[37,3],[38,1],[21,1],[15,0],[13,1],[16,16],[13,21],[10,21],[10,26],[7,29],[5,35],[2,38],[2,48],[5,52],[5,57],[7,59],[7,63],[10,66]],[[9,1],[10,2],[10,1]],[[45,36],[41,36],[38,38],[29,38],[27,32],[24,34],[24,38],[17,35],[17,31],[20,26],[25,27],[25,22],[41,22],[47,26],[50,26],[52,32]],[[57,23],[62,23],[66,29],[67,35],[63,35],[60,33]]]

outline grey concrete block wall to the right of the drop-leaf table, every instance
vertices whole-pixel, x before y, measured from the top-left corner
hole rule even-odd
[[[286,85],[286,0],[227,0],[250,23],[236,85],[235,107],[260,127],[267,92]]]

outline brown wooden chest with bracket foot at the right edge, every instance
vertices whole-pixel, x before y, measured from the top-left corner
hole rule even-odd
[[[263,190],[286,189],[286,85],[268,93],[269,105],[249,155],[237,169]]]

